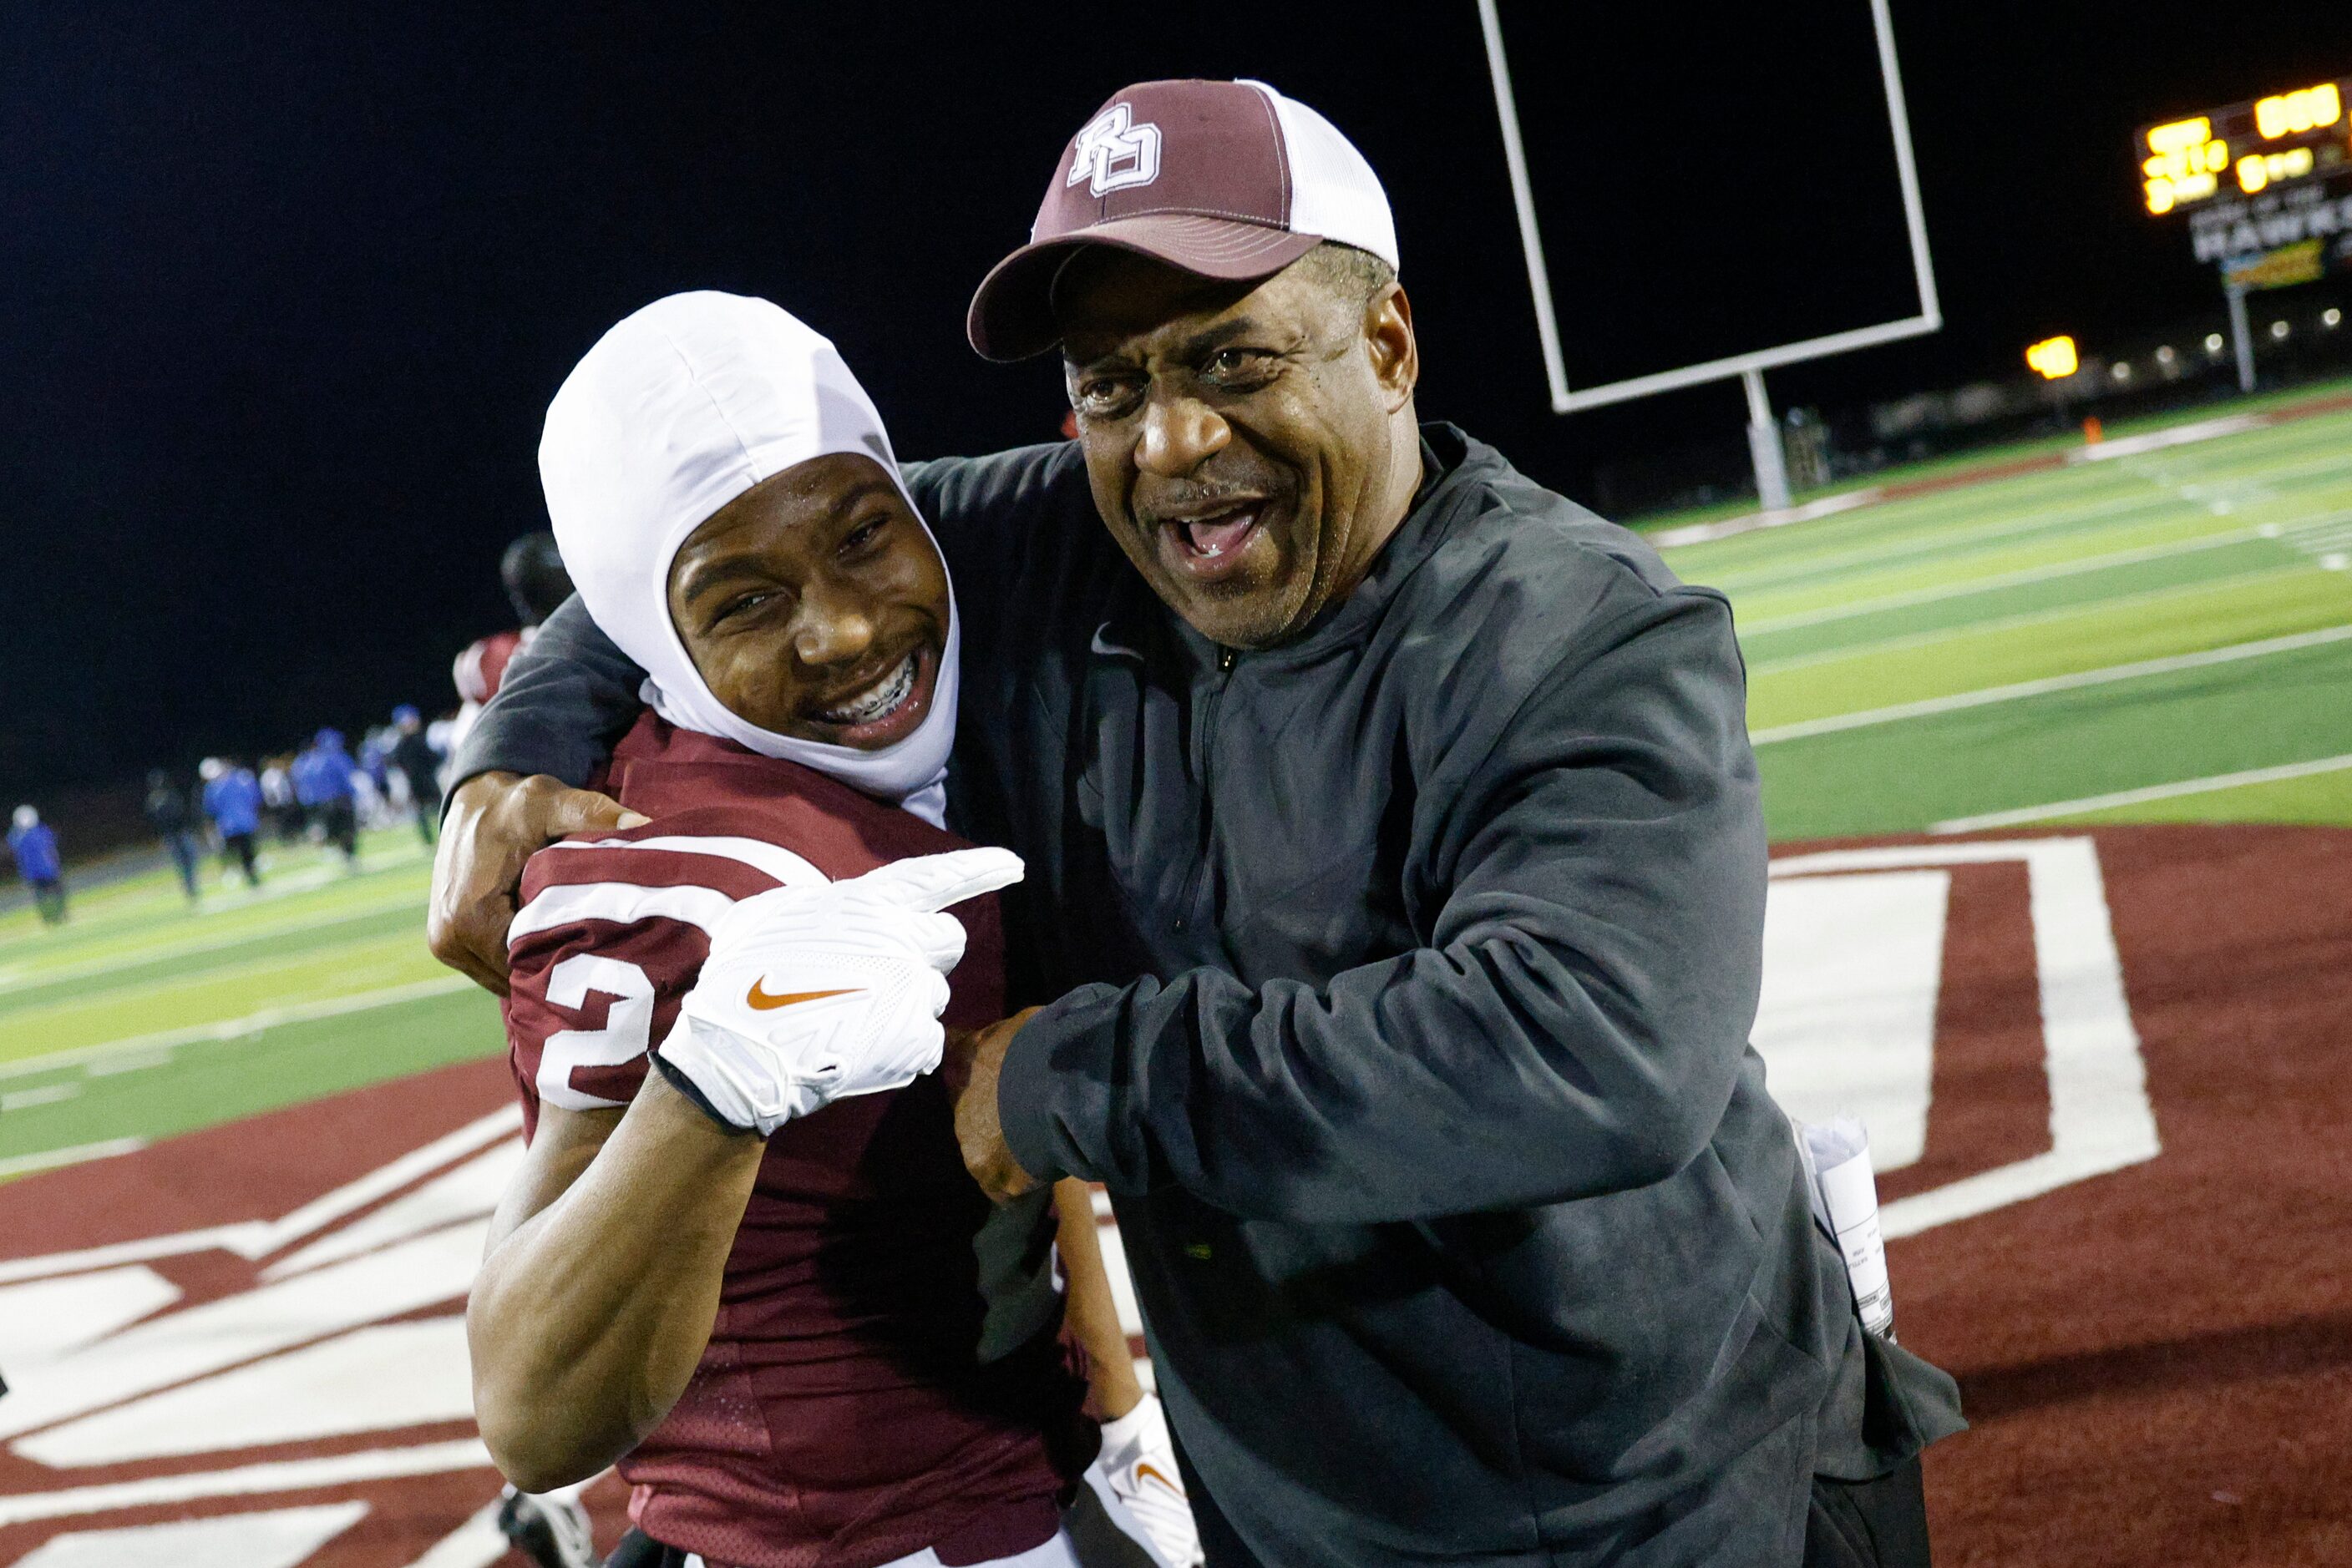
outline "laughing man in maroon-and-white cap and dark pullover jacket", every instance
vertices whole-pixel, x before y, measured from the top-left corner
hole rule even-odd
[[[1263,85],[1115,94],[969,336],[1058,348],[1077,440],[908,465],[1044,1004],[960,1135],[1110,1187],[1209,1561],[1924,1563],[1952,1385],[1860,1328],[1748,1046],[1724,599],[1418,423],[1388,197]],[[616,818],[567,785],[637,682],[579,604],[515,663],[445,959],[494,980],[522,858]]]

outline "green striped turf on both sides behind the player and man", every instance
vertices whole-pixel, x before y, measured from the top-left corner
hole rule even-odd
[[[1668,559],[1738,611],[1776,842],[2352,823],[2352,411]],[[275,860],[200,912],[155,872],[0,917],[0,1178],[499,1051],[426,957],[414,835]]]

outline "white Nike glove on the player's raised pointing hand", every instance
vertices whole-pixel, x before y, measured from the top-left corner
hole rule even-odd
[[[661,1060],[762,1138],[913,1084],[938,1067],[946,973],[964,957],[964,926],[941,910],[1014,882],[1009,849],[957,849],[746,898],[710,933]]]

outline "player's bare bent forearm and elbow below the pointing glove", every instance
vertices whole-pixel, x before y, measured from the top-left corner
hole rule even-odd
[[[626,1112],[541,1107],[466,1307],[475,1418],[508,1481],[583,1481],[670,1413],[764,1147],[659,1072]]]

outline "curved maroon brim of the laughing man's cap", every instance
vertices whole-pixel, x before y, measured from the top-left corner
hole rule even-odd
[[[964,315],[964,336],[983,360],[1028,360],[1061,343],[1054,320],[1054,275],[1073,252],[1089,244],[1167,261],[1200,277],[1249,282],[1272,277],[1322,244],[1319,235],[1294,235],[1270,223],[1209,219],[1188,212],[1155,212],[1110,219],[1075,235],[1023,244],[981,280]]]

